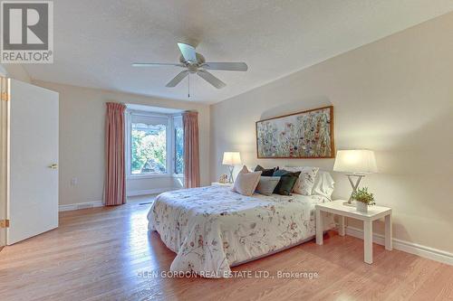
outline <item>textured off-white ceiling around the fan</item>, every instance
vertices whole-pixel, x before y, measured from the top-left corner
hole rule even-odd
[[[54,63],[24,65],[36,80],[188,99],[176,42],[207,61],[246,61],[247,72],[212,71],[215,89],[190,77],[191,100],[217,102],[453,10],[453,0],[55,0]]]

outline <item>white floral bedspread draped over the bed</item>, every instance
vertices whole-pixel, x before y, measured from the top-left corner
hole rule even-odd
[[[230,266],[296,244],[315,233],[320,195],[244,196],[226,186],[161,193],[149,213],[149,230],[177,253],[171,271],[227,277]],[[327,221],[328,228],[332,221]]]

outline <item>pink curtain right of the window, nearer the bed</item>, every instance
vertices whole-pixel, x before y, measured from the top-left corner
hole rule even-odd
[[[199,187],[198,112],[182,114],[184,127],[184,186]]]

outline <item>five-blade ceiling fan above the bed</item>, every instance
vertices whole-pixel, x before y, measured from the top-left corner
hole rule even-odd
[[[200,78],[206,80],[208,83],[222,89],[226,86],[226,83],[222,80],[217,79],[208,70],[219,70],[219,71],[247,71],[248,67],[245,62],[207,62],[205,57],[195,51],[195,47],[188,43],[178,42],[179,51],[181,56],[179,57],[179,63],[167,63],[167,62],[134,62],[133,67],[156,67],[156,66],[176,66],[182,67],[186,70],[180,71],[177,76],[170,80],[166,87],[173,88],[178,85],[181,80],[184,80],[188,74],[198,74]]]

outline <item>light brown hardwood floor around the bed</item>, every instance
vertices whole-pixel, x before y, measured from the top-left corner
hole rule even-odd
[[[140,277],[167,271],[175,254],[148,233],[150,201],[60,214],[60,227],[0,252],[0,300],[446,300],[453,267],[329,232],[313,241],[233,268],[274,278]],[[275,277],[278,271],[319,277]],[[238,274],[238,276],[245,274]]]

